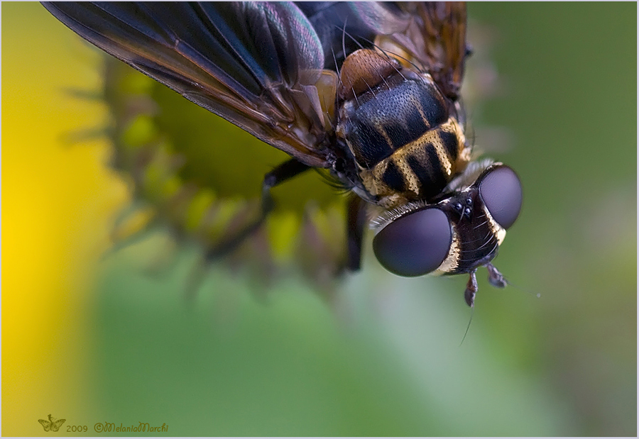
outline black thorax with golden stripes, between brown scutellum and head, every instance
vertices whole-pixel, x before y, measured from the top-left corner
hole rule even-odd
[[[432,199],[469,161],[464,132],[428,74],[403,70],[345,101],[338,134],[385,207]]]

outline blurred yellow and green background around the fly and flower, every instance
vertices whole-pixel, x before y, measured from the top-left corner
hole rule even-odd
[[[370,237],[331,306],[300,276],[222,266],[187,302],[192,245],[145,272],[161,234],[103,257],[130,188],[88,135],[104,104],[65,93],[99,89],[100,57],[39,4],[2,4],[2,433],[41,435],[51,413],[58,435],[636,435],[636,16],[469,5],[499,73],[475,140],[525,192],[496,265],[541,298],[480,271],[459,346],[466,279],[395,277]]]

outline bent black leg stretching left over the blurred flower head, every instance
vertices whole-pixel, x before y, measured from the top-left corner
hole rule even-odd
[[[290,159],[266,174],[262,182],[262,206],[260,216],[256,219],[256,221],[253,221],[246,227],[242,228],[239,233],[236,233],[236,235],[231,236],[230,238],[222,241],[222,243],[219,243],[219,245],[215,248],[209,250],[206,255],[207,260],[222,257],[228,252],[231,252],[240,245],[242,241],[260,228],[264,220],[266,220],[268,213],[270,213],[275,206],[273,203],[273,196],[271,196],[271,189],[309,169],[310,167],[308,165],[304,165],[295,159]]]

